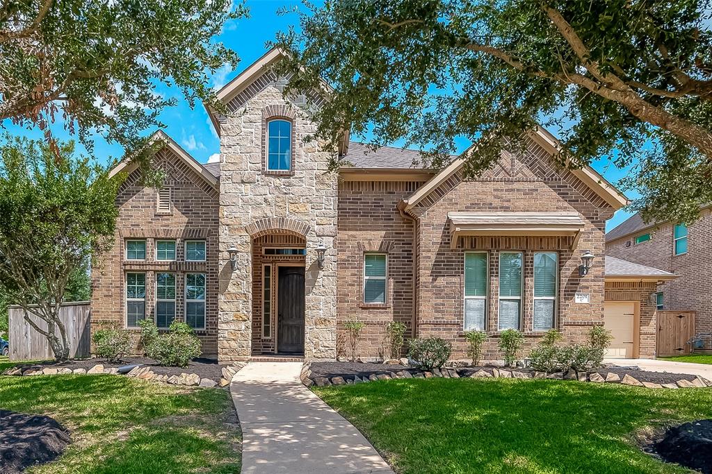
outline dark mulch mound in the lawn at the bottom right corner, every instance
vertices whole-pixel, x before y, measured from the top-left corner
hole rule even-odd
[[[672,426],[646,449],[668,463],[712,474],[712,420]]]

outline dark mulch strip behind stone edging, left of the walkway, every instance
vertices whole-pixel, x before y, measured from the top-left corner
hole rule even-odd
[[[182,373],[197,374],[201,379],[211,379],[215,382],[219,382],[221,377],[221,369],[222,367],[224,367],[219,365],[216,360],[212,359],[195,359],[188,364],[188,367],[162,367],[160,365],[157,365],[155,360],[149,359],[147,357],[124,357],[124,360],[122,360],[120,364],[112,364],[105,359],[94,357],[92,359],[68,360],[67,362],[62,362],[61,364],[57,364],[56,362],[52,361],[46,361],[40,362],[38,364],[21,365],[21,367],[23,367],[23,369],[56,367],[58,369],[66,368],[71,370],[89,370],[97,364],[101,364],[105,368],[125,367],[127,365],[142,365],[150,367],[151,370],[158,375],[170,376],[181,375]]]

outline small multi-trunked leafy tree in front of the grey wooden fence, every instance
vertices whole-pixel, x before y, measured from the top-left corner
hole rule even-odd
[[[66,360],[61,303],[88,297],[87,262],[112,244],[123,176],[76,156],[72,142],[0,145],[0,294]]]

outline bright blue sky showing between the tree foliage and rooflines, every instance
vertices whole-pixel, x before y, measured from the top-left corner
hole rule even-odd
[[[216,72],[211,78],[211,85],[216,88],[225,85],[238,72],[247,68],[248,65],[265,53],[266,41],[272,40],[278,31],[285,30],[290,25],[296,26],[298,20],[295,14],[279,16],[276,11],[283,9],[285,6],[299,5],[299,2],[288,0],[247,0],[250,18],[231,21],[218,38],[219,41],[222,41],[238,53],[241,60],[240,64],[236,70],[223,68]],[[179,90],[164,85],[161,85],[157,92],[164,95],[164,97],[175,97],[178,101],[177,106],[164,109],[159,116],[159,120],[166,125],[164,131],[201,163],[209,161],[211,156],[212,159],[216,159],[217,153],[220,151],[219,141],[202,104],[197,104],[194,109],[191,109]],[[36,129],[19,129],[10,124],[9,121],[5,121],[3,125],[12,134],[28,136],[33,139],[42,138],[41,132]],[[61,122],[54,124],[52,128],[53,134],[58,138],[71,138],[63,129]],[[556,134],[555,130],[550,131]],[[148,133],[150,132],[148,131]],[[460,151],[464,151],[467,145],[466,142],[463,142],[461,144],[462,150]],[[107,144],[101,136],[97,136],[95,139],[95,156],[98,156],[101,161],[108,162],[110,158],[122,156],[122,149],[116,144]],[[619,170],[608,161],[603,160],[593,163],[593,168],[611,183],[616,183],[619,178],[622,178],[627,173],[627,170]],[[628,193],[628,197],[636,198],[637,195]],[[612,220],[607,223],[607,230],[618,225],[629,215],[629,212],[618,211]]]

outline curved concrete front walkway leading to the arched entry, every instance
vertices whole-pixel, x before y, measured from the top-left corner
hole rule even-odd
[[[300,362],[250,362],[230,390],[243,474],[393,474],[352,424],[299,380]]]

